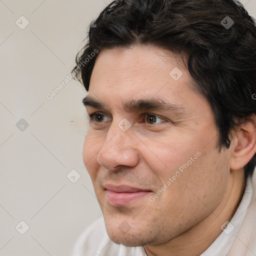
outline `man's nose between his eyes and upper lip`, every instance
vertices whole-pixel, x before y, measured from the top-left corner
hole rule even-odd
[[[105,143],[98,152],[97,162],[109,170],[115,169],[118,165],[136,166],[139,154],[134,136],[131,127],[123,131],[117,123],[112,122]]]

